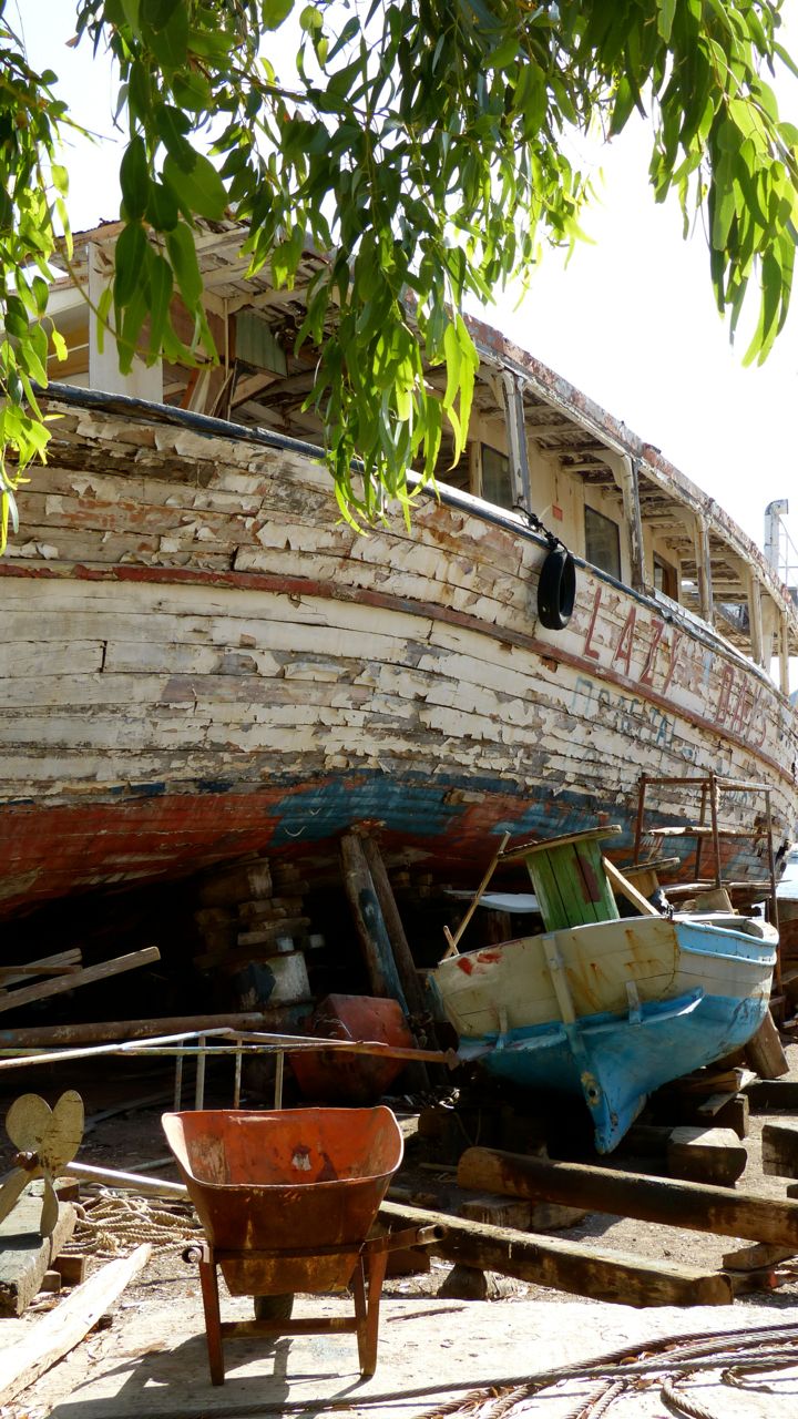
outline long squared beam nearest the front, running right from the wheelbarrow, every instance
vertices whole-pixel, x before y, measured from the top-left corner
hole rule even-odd
[[[444,1236],[432,1243],[433,1256],[571,1296],[626,1305],[728,1305],[733,1300],[731,1284],[723,1271],[647,1261],[594,1243],[531,1239],[510,1227],[491,1227],[395,1202],[382,1203],[379,1220],[388,1226],[440,1226]]]

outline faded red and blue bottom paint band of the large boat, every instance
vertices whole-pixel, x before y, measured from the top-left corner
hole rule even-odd
[[[369,823],[389,861],[473,885],[491,854],[493,834],[551,837],[618,822],[630,843],[632,820],[615,805],[578,792],[530,795],[507,782],[457,782],[443,775],[398,780],[354,772],[324,780],[236,792],[99,793],[94,802],[51,806],[16,802],[0,813],[0,915],[98,887],[180,878],[246,853],[268,853],[338,874],[337,837]],[[743,870],[743,868],[741,868]]]

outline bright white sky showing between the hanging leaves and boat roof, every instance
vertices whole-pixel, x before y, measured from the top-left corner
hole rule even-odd
[[[72,228],[94,227],[118,216],[115,84],[88,45],[65,47],[72,0],[11,0],[11,24],[14,9],[31,62],[55,70],[75,118],[102,136],[67,159]],[[798,54],[795,18],[785,35]],[[798,125],[798,84],[782,82],[780,95]],[[647,190],[643,125],[596,148],[592,162],[603,173],[585,221],[595,245],[579,247],[567,270],[547,253],[523,305],[501,299],[486,318],[662,448],[760,545],[765,505],[789,498],[798,543],[798,294],[765,366],[743,369],[745,343],[730,349],[714,308],[703,233],[683,243],[676,206],[655,206]]]

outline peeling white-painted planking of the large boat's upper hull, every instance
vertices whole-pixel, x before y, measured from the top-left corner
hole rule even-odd
[[[53,481],[31,492],[34,531],[4,576],[18,654],[6,658],[0,771],[16,796],[78,795],[82,810],[128,783],[190,792],[222,778],[263,792],[386,763],[395,782],[437,785],[444,746],[446,772],[479,776],[486,803],[523,772],[527,785],[568,782],[589,812],[608,778],[629,800],[652,752],[673,772],[714,765],[720,734],[728,772],[782,773],[777,819],[792,816],[778,694],[689,616],[666,623],[581,569],[571,624],[544,631],[541,543],[461,509],[430,501],[412,532],[398,518],[358,538],[301,457],[74,410],[57,440]],[[11,575],[26,566],[45,573],[35,616]],[[43,629],[62,674],[35,673]],[[503,809],[497,795],[483,832]],[[750,809],[731,806],[731,826]],[[163,815],[173,822],[168,803]],[[160,854],[133,856],[136,876],[163,871]],[[20,884],[31,871],[44,883],[40,861],[14,841]],[[118,877],[112,851],[104,861]]]

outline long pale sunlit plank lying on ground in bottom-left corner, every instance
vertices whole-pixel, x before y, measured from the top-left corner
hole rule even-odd
[[[88,1335],[92,1325],[97,1325],[99,1317],[145,1266],[149,1253],[151,1247],[145,1243],[131,1256],[109,1261],[78,1286],[54,1311],[37,1321],[30,1335],[26,1335],[13,1351],[3,1352],[0,1405],[9,1403],[20,1391],[33,1385],[45,1369]]]

